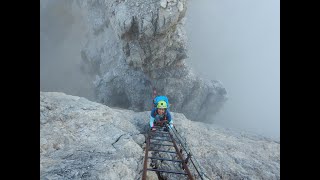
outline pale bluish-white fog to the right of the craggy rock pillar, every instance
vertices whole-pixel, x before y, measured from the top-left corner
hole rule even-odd
[[[215,124],[279,140],[280,1],[188,3],[188,61],[228,92]]]

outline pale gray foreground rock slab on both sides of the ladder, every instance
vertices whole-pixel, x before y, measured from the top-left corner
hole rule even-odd
[[[141,179],[149,113],[40,92],[40,179]],[[210,179],[280,179],[279,142],[172,116]]]

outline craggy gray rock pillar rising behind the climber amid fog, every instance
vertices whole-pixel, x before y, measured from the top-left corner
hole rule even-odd
[[[41,1],[43,7],[50,5],[45,2]],[[96,76],[98,102],[149,110],[155,87],[158,94],[169,97],[173,111],[209,121],[226,101],[220,83],[200,79],[185,64],[186,0],[73,0],[68,4],[87,17],[82,69]]]

